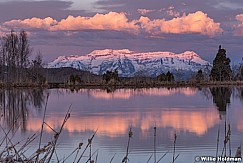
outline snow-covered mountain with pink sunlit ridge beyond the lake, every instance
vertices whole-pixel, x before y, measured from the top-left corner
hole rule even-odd
[[[162,72],[196,72],[210,69],[211,64],[193,51],[181,54],[172,52],[136,53],[128,49],[95,50],[84,56],[60,56],[48,64],[48,68],[73,67],[80,70],[104,74],[117,70],[120,76],[157,76]]]

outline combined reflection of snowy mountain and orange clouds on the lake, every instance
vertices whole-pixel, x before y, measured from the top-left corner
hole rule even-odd
[[[94,132],[99,128],[100,134],[116,137],[126,134],[131,125],[146,133],[156,124],[160,128],[172,128],[200,136],[219,123],[218,111],[213,106],[205,107],[204,103],[200,103],[201,94],[197,88],[118,89],[111,93],[98,89],[81,89],[65,98],[67,101],[73,100],[79,94],[88,97],[84,100],[87,106],[82,108],[85,113],[74,109],[72,118],[64,127],[71,133],[87,130]],[[187,98],[189,100],[185,100]],[[106,104],[103,100],[106,100]],[[145,109],[142,109],[143,101],[146,101]],[[77,103],[80,104],[81,101]],[[97,108],[91,110],[93,105]],[[104,105],[103,108],[100,105]],[[109,106],[110,109],[107,108]],[[188,109],[192,106],[194,108]],[[55,128],[60,127],[62,120],[63,117],[56,111],[46,119]],[[41,118],[32,119],[27,125],[28,130],[38,131],[41,122]]]

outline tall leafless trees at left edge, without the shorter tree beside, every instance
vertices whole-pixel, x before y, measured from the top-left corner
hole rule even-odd
[[[27,33],[13,30],[1,38],[0,45],[1,77],[3,82],[20,83],[26,79],[23,71],[28,67],[32,49]]]

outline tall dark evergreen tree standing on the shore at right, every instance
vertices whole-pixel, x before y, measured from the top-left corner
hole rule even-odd
[[[231,80],[232,70],[230,68],[230,59],[226,57],[226,50],[219,46],[218,53],[213,60],[213,68],[210,77],[216,81]]]

